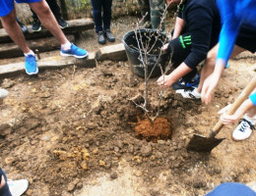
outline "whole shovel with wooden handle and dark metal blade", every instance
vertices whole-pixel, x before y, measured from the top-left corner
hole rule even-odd
[[[256,87],[256,76],[245,86],[241,94],[236,98],[230,108],[227,110],[227,115],[233,115],[240,105],[248,98],[251,92]],[[189,141],[186,149],[188,151],[197,151],[211,153],[211,151],[218,146],[224,138],[215,138],[215,136],[221,131],[224,124],[219,121],[212,129],[209,137],[203,135],[194,134],[192,139]]]

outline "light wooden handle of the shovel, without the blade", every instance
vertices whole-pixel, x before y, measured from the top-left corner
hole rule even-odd
[[[245,86],[240,95],[235,99],[233,104],[227,110],[227,115],[233,115],[235,111],[240,107],[240,105],[248,98],[251,92],[256,88],[256,75],[250,80],[250,82]],[[210,137],[215,137],[223,128],[224,124],[221,120],[213,127]]]

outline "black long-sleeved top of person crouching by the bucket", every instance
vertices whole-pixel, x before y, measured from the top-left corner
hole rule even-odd
[[[222,25],[216,0],[186,0],[178,17],[185,21],[186,32],[191,34],[191,53],[184,63],[194,69],[218,43]]]

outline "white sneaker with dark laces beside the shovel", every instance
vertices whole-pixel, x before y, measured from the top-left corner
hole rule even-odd
[[[251,135],[253,129],[253,122],[250,122],[247,119],[242,119],[233,130],[232,138],[236,141],[247,139]]]

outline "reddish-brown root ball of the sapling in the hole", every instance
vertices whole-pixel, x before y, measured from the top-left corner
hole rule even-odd
[[[167,140],[171,136],[170,123],[164,118],[158,118],[154,123],[151,123],[147,118],[142,121],[139,120],[134,129],[136,136],[147,141]]]

